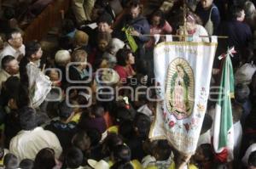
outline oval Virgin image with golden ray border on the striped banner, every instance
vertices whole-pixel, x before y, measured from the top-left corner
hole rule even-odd
[[[177,120],[191,115],[194,107],[195,83],[193,70],[182,58],[174,59],[166,78],[166,107]]]

